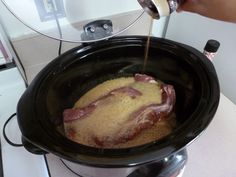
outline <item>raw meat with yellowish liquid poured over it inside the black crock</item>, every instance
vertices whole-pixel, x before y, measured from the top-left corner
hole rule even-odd
[[[176,126],[174,88],[136,74],[105,81],[64,110],[66,136],[99,148],[127,148],[156,141]]]

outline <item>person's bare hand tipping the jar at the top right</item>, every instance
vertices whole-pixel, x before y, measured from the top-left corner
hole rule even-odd
[[[186,0],[179,11],[189,11],[217,20],[236,23],[236,0]]]

